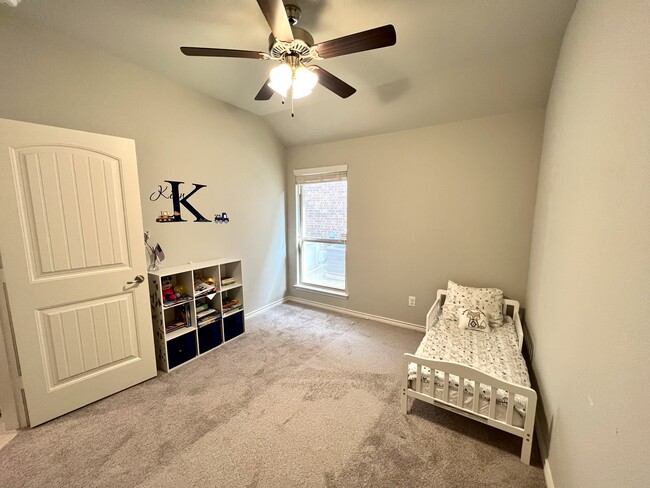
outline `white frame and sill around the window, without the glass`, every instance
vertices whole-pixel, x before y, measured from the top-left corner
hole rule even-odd
[[[303,237],[305,219],[303,215],[304,205],[302,201],[302,186],[309,183],[325,183],[328,181],[347,181],[348,167],[345,164],[337,166],[323,166],[318,168],[295,169],[293,174],[296,178],[296,279],[295,288],[308,290],[326,295],[342,298],[348,297],[348,239],[347,232],[345,239],[325,239]],[[347,208],[346,208],[347,214]],[[345,245],[345,287],[343,289],[305,283],[302,280],[302,247],[304,242],[323,244],[344,244]]]

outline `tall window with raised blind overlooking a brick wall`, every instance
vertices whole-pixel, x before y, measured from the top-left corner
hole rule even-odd
[[[347,166],[295,170],[298,286],[345,295]]]

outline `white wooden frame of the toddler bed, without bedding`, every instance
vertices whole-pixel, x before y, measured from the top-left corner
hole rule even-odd
[[[436,322],[438,315],[441,313],[442,304],[444,303],[446,297],[447,290],[438,290],[436,301],[427,314],[427,332]],[[519,350],[521,351],[521,348],[524,344],[524,333],[521,327],[521,319],[519,318],[519,302],[516,300],[504,300],[503,313],[510,315],[515,322],[517,337],[519,339]],[[409,363],[415,363],[417,365],[417,376],[412,382],[409,382],[408,379]],[[440,371],[444,373],[444,383],[441,399],[435,398],[433,396],[433,381],[423,381],[423,366],[430,368],[431,377],[433,377],[434,371]],[[507,381],[496,378],[494,376],[490,376],[479,370],[459,363],[435,361],[432,359],[415,356],[414,354],[404,354],[402,371],[402,395],[400,398],[400,404],[403,413],[407,414],[409,411],[409,398],[417,398],[418,400],[422,400],[437,407],[444,408],[451,412],[458,413],[470,419],[477,420],[497,429],[519,436],[522,438],[521,461],[526,464],[530,464],[530,453],[533,445],[533,429],[535,426],[535,410],[537,407],[537,393],[535,390],[526,388],[525,386],[516,385],[514,383],[509,383]],[[465,392],[464,388],[462,387],[458,388],[456,401],[452,403],[450,401],[451,399],[449,394],[449,375],[457,376],[459,379],[459,385],[463,385],[464,380],[470,380],[474,381],[474,385],[489,385],[491,387],[491,392],[496,392],[497,388],[506,391],[508,393],[508,407],[506,411],[505,421],[500,419],[497,420],[496,418],[496,394],[490,394],[490,409],[488,415],[480,413],[480,395],[478,395],[480,388],[477,388],[476,386],[474,388],[475,394],[473,396],[471,406],[465,407],[463,405]],[[411,384],[409,385],[409,383]],[[429,386],[426,386],[427,383]],[[514,415],[518,415],[514,412],[515,395],[521,395],[522,397],[528,399],[528,405],[526,407],[526,419],[524,420],[523,428],[518,427],[513,423]]]

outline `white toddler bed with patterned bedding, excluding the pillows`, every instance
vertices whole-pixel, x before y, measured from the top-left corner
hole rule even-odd
[[[521,461],[530,464],[537,394],[521,354],[519,302],[503,299],[503,325],[485,333],[445,320],[446,298],[447,290],[439,290],[420,346],[404,354],[402,412],[416,398],[517,435]]]

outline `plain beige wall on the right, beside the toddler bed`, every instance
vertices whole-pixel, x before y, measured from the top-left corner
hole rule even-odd
[[[526,303],[558,487],[650,479],[648,26],[579,2],[548,105]]]

